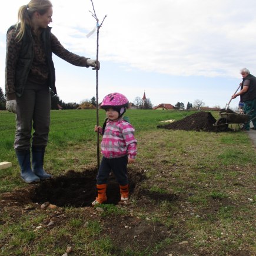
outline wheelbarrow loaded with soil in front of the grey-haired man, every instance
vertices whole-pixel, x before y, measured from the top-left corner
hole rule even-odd
[[[215,124],[213,124],[215,127],[217,127],[217,131],[219,132],[227,131],[229,124],[240,125],[251,121],[250,115],[238,114],[235,112],[222,112],[220,115],[221,117],[217,119]]]

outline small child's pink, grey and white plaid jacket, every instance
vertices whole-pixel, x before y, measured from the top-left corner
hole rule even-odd
[[[99,131],[102,134],[102,129]],[[118,158],[128,155],[135,158],[137,155],[137,140],[134,138],[135,129],[129,122],[120,118],[114,121],[107,120],[101,141],[101,153],[105,158]]]

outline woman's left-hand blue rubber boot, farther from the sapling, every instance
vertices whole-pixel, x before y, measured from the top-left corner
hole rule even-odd
[[[21,167],[21,178],[26,183],[39,182],[40,178],[36,176],[31,170],[30,151],[28,150],[15,150],[18,158],[19,166]]]

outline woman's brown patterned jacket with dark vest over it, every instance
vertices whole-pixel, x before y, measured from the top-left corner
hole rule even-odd
[[[55,68],[52,62],[52,52],[59,58],[80,67],[89,67],[87,58],[69,52],[51,33],[51,28],[42,29],[41,36],[36,36],[26,25],[21,41],[16,39],[19,26],[11,26],[6,36],[6,67],[5,92],[6,98],[21,97],[28,81],[37,84],[48,82],[56,94]]]

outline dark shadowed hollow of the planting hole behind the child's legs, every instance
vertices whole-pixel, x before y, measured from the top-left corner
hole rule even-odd
[[[32,202],[44,203],[46,201],[58,207],[88,207],[97,195],[97,170],[75,172],[69,171],[60,177],[48,179],[39,183],[31,197]],[[132,194],[139,174],[129,174],[129,192]],[[140,176],[140,175],[139,175]],[[119,184],[114,174],[108,178],[107,204],[118,204],[120,200]]]

